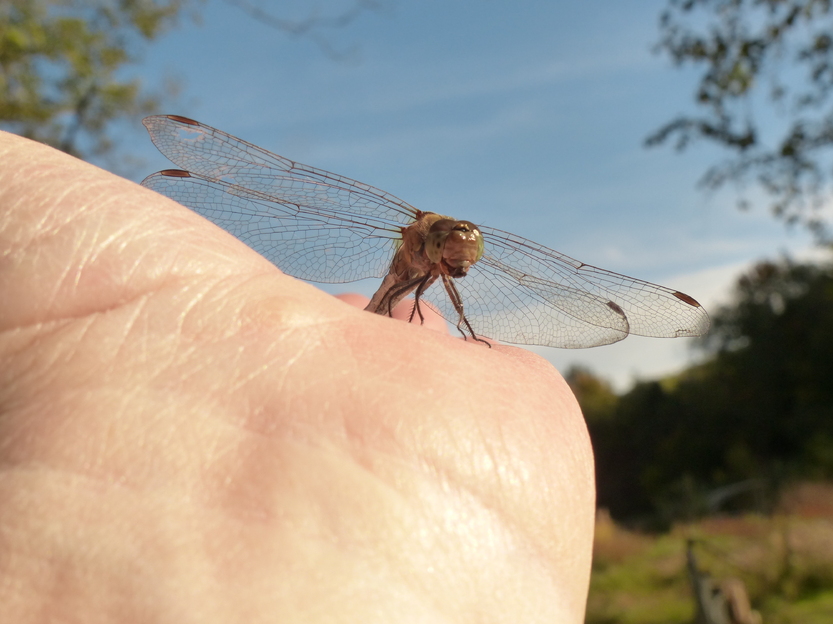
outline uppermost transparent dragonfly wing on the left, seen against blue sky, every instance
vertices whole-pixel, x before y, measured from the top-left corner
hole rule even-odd
[[[418,214],[410,204],[369,184],[294,162],[186,117],[155,115],[142,123],[171,162],[206,178],[277,197],[291,192],[293,185],[313,184],[319,192],[328,188],[333,196],[339,195],[350,212],[405,225]]]

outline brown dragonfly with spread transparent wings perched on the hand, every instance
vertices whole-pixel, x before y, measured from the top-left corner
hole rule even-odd
[[[464,337],[560,348],[708,331],[706,311],[678,290],[418,210],[187,117],[155,115],[143,123],[180,169],[154,173],[142,186],[213,221],[293,277],[382,278],[370,312],[390,316],[413,295],[411,320],[423,320],[428,304]]]

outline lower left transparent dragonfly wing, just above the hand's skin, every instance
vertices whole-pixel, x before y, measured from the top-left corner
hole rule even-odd
[[[326,196],[318,204],[308,197],[312,207],[184,171],[154,173],[142,186],[213,221],[284,273],[310,281],[382,277],[401,233],[384,219],[328,209]]]

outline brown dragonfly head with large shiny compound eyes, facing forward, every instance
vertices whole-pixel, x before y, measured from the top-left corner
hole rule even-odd
[[[425,237],[428,259],[451,277],[463,277],[483,257],[483,235],[471,221],[439,219]]]

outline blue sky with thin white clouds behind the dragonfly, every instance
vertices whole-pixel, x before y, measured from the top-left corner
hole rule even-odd
[[[198,119],[293,160],[367,182],[423,210],[531,238],[589,264],[683,290],[707,309],[738,272],[810,239],[763,204],[696,182],[720,157],[642,142],[691,111],[695,75],[651,52],[665,2],[385,0],[381,13],[322,31],[357,62],[209,0],[137,67],[181,84],[165,112]],[[288,19],[350,0],[262,2]],[[122,149],[144,174],[169,163],[137,127]],[[369,293],[372,285],[360,285]],[[350,291],[349,286],[328,288]],[[581,351],[536,349],[562,371],[590,366],[625,388],[678,369],[690,341],[630,337]]]

